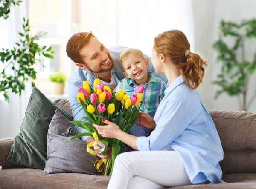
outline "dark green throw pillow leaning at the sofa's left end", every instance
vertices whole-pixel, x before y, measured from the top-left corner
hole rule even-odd
[[[20,133],[15,137],[7,156],[10,163],[44,169],[47,161],[47,132],[56,109],[72,120],[67,112],[47,99],[37,88],[33,89]]]

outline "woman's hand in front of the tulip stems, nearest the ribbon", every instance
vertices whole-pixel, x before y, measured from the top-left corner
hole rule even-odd
[[[107,125],[93,124],[93,126],[97,129],[98,133],[102,135],[102,137],[116,138],[121,132],[119,126],[105,119],[103,119],[102,121]]]

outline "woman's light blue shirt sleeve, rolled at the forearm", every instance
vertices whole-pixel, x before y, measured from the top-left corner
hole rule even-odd
[[[148,137],[137,137],[136,146],[140,151],[163,150],[169,146],[198,116],[199,109],[188,107],[185,101],[172,100],[166,104],[156,120],[156,129]]]

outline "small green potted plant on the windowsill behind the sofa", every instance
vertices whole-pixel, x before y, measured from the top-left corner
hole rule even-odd
[[[65,82],[67,74],[61,71],[49,75],[49,80],[52,82],[52,94],[64,94]]]

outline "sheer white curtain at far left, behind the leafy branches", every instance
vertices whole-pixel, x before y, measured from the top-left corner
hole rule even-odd
[[[23,17],[27,18],[26,0],[23,0],[20,6],[11,7],[7,20],[0,18],[0,48],[12,49],[14,44],[19,42],[18,32],[23,32]],[[0,70],[2,69],[3,67],[0,67]],[[6,71],[8,73],[10,70]],[[31,84],[27,82],[26,90],[20,97],[19,94],[9,92],[9,103],[3,100],[0,94],[0,138],[15,137],[20,131],[31,91]]]

